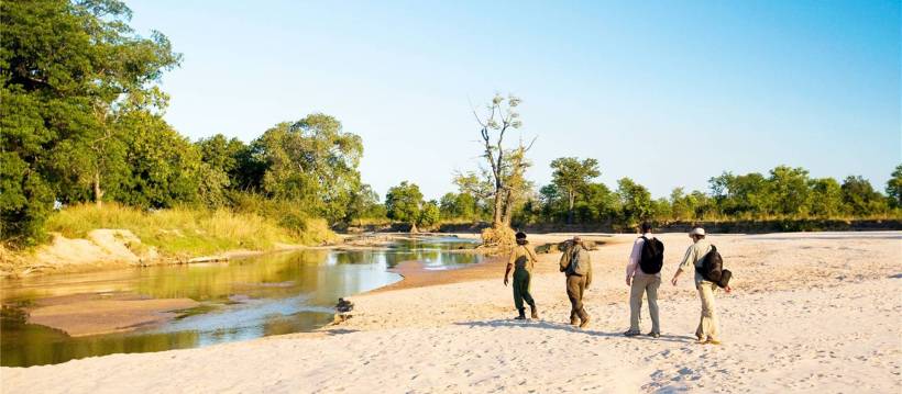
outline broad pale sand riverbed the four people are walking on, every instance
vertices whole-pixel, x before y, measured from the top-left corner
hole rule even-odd
[[[498,278],[353,297],[331,330],[201,349],[2,368],[3,393],[847,392],[902,390],[902,233],[713,237],[735,272],[718,293],[725,345],[693,344],[691,278],[659,293],[663,336],[625,338],[629,244],[593,252],[586,330],[563,324],[563,279],[546,256],[542,319],[510,320]],[[664,236],[664,279],[689,245]],[[628,240],[628,239],[625,239]],[[648,330],[649,322],[642,322]]]

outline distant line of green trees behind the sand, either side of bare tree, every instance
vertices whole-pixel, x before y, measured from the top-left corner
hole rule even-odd
[[[849,228],[843,223],[850,219],[902,218],[902,165],[892,172],[887,194],[858,176],[842,182],[833,178],[812,179],[802,168],[779,166],[767,176],[724,172],[708,180],[706,192],[686,193],[676,188],[669,198],[660,199],[652,199],[647,188],[629,178],[618,180],[614,190],[593,181],[600,175],[593,159],[562,158],[554,160],[552,167],[552,183],[516,205],[512,222],[515,228],[631,230],[641,221],[652,221],[659,226],[734,222],[745,223],[744,228],[805,230]],[[474,175],[470,177],[469,181],[479,182]],[[458,192],[421,203],[437,206],[438,219],[421,221],[420,226],[446,223],[444,228],[452,228],[453,224],[464,228],[471,223],[491,221],[492,201],[474,194],[466,178],[455,177],[461,185]],[[400,190],[415,188],[405,182]],[[395,212],[391,204],[388,209],[389,217],[400,218],[391,216]],[[831,221],[836,224],[829,224]]]

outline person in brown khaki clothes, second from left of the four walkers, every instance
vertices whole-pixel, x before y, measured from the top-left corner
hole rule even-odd
[[[582,239],[576,236],[561,256],[561,272],[566,274],[566,296],[570,299],[570,324],[588,326],[588,314],[583,307],[583,293],[592,284],[592,259]]]

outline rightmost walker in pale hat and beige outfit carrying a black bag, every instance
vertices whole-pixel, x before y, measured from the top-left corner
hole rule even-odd
[[[706,280],[700,272],[703,268],[705,256],[712,251],[711,244],[705,239],[705,229],[695,227],[689,233],[692,238],[692,245],[686,249],[686,255],[680,263],[673,279],[670,280],[673,285],[676,285],[676,280],[683,271],[692,270],[695,273],[695,289],[698,291],[698,299],[702,301],[702,317],[698,319],[698,327],[695,329],[695,337],[698,344],[721,345],[717,312],[714,306],[714,293],[717,292],[717,283]],[[732,289],[727,285],[724,288],[727,293]]]

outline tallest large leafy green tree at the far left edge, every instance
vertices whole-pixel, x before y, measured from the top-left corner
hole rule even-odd
[[[165,108],[156,82],[179,63],[164,35],[135,34],[130,18],[116,0],[0,2],[4,239],[40,239],[57,192],[99,204],[108,182],[128,179],[120,121]]]

